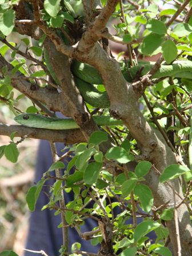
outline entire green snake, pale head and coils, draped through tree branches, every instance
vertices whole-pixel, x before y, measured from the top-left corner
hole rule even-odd
[[[50,71],[55,82],[58,83],[57,78],[51,68],[49,59],[46,58],[47,68]],[[135,77],[147,74],[153,67],[153,62],[139,62],[138,66],[128,68],[125,63],[119,63],[121,66],[122,74],[127,80],[131,82]],[[71,65],[71,71],[74,75],[75,84],[77,85],[83,99],[91,106],[99,108],[107,108],[110,106],[109,98],[106,91],[99,91],[94,85],[102,84],[102,78],[98,71],[93,67],[85,63],[74,61]],[[160,69],[153,75],[152,78],[163,78],[163,77],[177,77],[192,79],[192,62],[191,61],[177,61],[172,65],[161,65]],[[94,84],[94,85],[93,85]],[[115,120],[110,116],[94,116],[93,117],[97,125],[121,125],[122,121]],[[37,114],[21,114],[14,118],[14,120],[21,125],[43,128],[43,129],[54,129],[54,130],[65,130],[65,129],[76,129],[78,128],[77,123],[71,118],[49,118],[43,117]]]

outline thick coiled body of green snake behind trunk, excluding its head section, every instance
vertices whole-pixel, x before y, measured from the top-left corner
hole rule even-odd
[[[123,77],[127,82],[134,81],[138,76],[142,77],[147,74],[154,66],[155,62],[139,62],[138,66],[130,67],[124,62],[120,62]],[[107,108],[110,106],[109,98],[106,91],[99,91],[94,85],[103,84],[102,78],[98,71],[88,64],[74,61],[71,65],[71,71],[74,75],[76,86],[78,87],[83,99],[91,106]],[[176,61],[172,65],[161,65],[160,69],[152,78],[177,77],[192,79],[192,62]]]

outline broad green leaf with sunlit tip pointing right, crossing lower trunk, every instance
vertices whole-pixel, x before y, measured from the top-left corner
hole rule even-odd
[[[160,176],[160,182],[164,183],[169,181],[169,179],[174,179],[179,177],[182,174],[185,174],[190,169],[184,165],[170,165],[165,168],[163,173]]]

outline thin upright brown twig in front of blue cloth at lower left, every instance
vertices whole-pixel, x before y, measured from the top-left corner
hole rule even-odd
[[[55,143],[50,142],[50,147],[51,147],[51,154],[53,156],[53,161],[57,162],[59,157],[57,155],[57,149],[55,146]],[[57,178],[61,178],[61,170],[60,169],[55,169],[55,176]],[[63,195],[63,190],[62,190],[62,184],[61,184],[61,200],[59,200],[59,206],[61,208],[65,208],[65,198]],[[65,214],[62,212],[61,213],[61,219],[62,219],[62,233],[63,233],[63,246],[65,246],[65,254],[69,255],[69,234],[68,234],[68,227],[67,227],[67,222],[65,219]]]

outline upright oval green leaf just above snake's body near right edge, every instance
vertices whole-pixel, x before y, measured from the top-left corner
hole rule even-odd
[[[170,64],[177,57],[177,46],[171,40],[167,40],[163,43],[162,51],[167,64]]]

